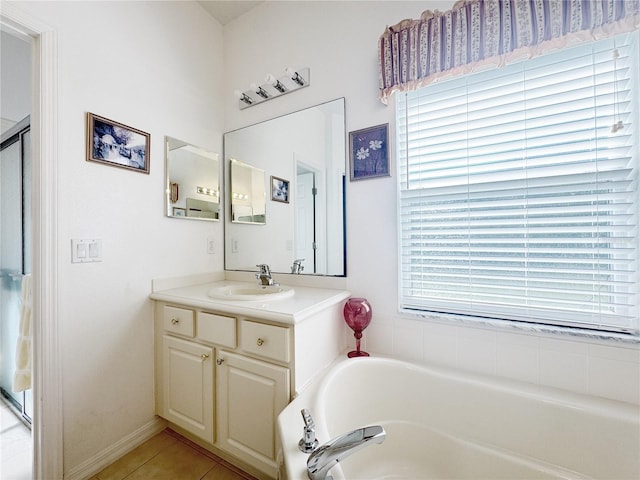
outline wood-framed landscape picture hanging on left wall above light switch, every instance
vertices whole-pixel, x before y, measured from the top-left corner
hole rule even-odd
[[[87,161],[149,173],[150,135],[87,113]]]

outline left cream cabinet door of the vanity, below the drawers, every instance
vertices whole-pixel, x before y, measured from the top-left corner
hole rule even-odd
[[[213,443],[213,348],[163,337],[163,417]]]

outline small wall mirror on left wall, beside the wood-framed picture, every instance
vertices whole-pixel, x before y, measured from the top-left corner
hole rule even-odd
[[[167,216],[220,219],[218,154],[165,137]]]

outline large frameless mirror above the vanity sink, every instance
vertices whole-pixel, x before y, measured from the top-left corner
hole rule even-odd
[[[345,139],[344,98],[225,133],[226,270],[266,263],[274,273],[345,275]],[[238,165],[262,174],[260,222],[235,216],[234,193],[251,195],[236,185]],[[245,220],[255,215],[242,212]]]

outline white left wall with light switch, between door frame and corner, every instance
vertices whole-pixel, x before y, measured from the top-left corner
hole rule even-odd
[[[58,33],[68,474],[154,419],[151,279],[223,268],[221,251],[206,253],[209,236],[221,250],[222,222],[164,216],[163,147],[169,135],[222,151],[222,27],[193,2],[14,5]],[[150,174],[85,161],[86,112],[150,133]],[[71,263],[82,237],[102,239],[102,262]]]

